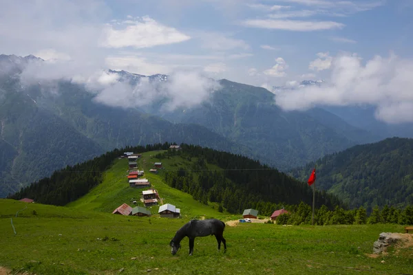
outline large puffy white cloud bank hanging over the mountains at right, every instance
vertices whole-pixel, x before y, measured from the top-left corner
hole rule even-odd
[[[328,83],[278,91],[277,104],[286,110],[309,109],[317,104],[372,104],[380,120],[413,122],[413,61],[394,55],[375,56],[366,64],[361,61],[356,54],[333,58]]]

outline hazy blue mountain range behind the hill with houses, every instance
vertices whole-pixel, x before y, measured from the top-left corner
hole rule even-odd
[[[65,78],[22,83],[22,72],[32,62],[44,61],[0,55],[0,197],[56,169],[123,146],[199,144],[285,171],[382,138],[326,109],[283,111],[270,91],[225,79],[216,81],[219,87],[199,104],[169,109],[165,106],[173,98],[162,94],[169,76],[108,70],[105,76],[116,76],[116,84],[129,85],[131,93],[150,96],[136,89],[142,80],[155,93],[142,104],[136,98],[122,101],[120,90],[113,89],[109,101],[118,100],[114,106],[96,100],[98,92],[84,83]]]

